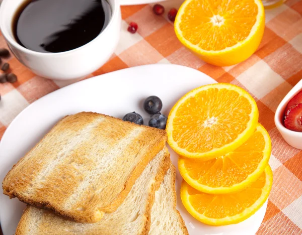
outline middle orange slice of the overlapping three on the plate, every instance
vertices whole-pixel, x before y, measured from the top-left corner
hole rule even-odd
[[[257,180],[268,164],[271,141],[258,124],[253,135],[239,148],[208,161],[180,158],[178,168],[184,180],[205,193],[231,193]]]

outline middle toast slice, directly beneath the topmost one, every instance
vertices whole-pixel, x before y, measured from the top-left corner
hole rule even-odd
[[[120,207],[113,213],[106,213],[96,223],[65,220],[50,210],[28,206],[18,224],[16,235],[147,234],[155,190],[163,182],[170,163],[170,155],[165,147],[149,162]]]

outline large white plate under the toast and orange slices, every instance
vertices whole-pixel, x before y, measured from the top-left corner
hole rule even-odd
[[[29,151],[50,129],[67,114],[94,111],[122,118],[127,112],[137,111],[144,122],[148,115],[142,102],[149,95],[163,101],[162,112],[169,114],[173,104],[186,92],[201,85],[215,83],[209,76],[179,65],[145,65],[119,70],[90,78],[54,91],[24,109],[12,122],[0,142],[0,182],[12,166]],[[171,159],[177,155],[170,149]],[[177,172],[177,206],[191,235],[255,234],[265,214],[266,204],[245,221],[228,226],[208,226],[187,213],[179,196],[182,178]],[[18,199],[0,195],[0,221],[4,235],[12,235],[25,204]]]

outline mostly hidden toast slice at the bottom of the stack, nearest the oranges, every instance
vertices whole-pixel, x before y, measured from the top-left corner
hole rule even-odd
[[[189,235],[185,222],[176,209],[175,172],[175,166],[171,163],[164,181],[155,192],[149,235]]]

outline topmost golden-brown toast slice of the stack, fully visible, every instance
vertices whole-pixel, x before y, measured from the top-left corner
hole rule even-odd
[[[119,207],[166,141],[163,130],[111,116],[68,115],[7,174],[4,194],[78,222],[97,222]]]

